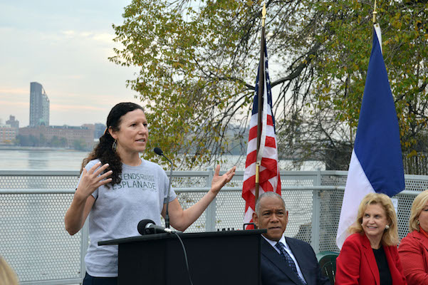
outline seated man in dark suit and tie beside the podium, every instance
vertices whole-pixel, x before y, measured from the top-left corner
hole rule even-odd
[[[310,244],[284,237],[288,223],[286,204],[275,192],[260,195],[254,223],[267,229],[261,239],[261,281],[263,285],[325,285],[320,266]]]

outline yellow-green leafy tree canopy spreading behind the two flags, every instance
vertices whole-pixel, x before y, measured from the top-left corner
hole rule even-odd
[[[232,125],[243,138],[260,2],[134,0],[124,23],[113,26],[123,48],[110,60],[140,67],[127,84],[145,105],[150,144],[181,154],[189,167],[227,152]],[[427,125],[427,1],[377,4],[402,147],[411,152]],[[372,1],[266,1],[266,9],[279,153],[347,169],[370,57]],[[348,159],[332,160],[332,153]]]

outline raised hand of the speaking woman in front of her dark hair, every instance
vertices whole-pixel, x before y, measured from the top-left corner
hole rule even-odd
[[[82,177],[80,178],[75,195],[78,195],[81,199],[87,199],[98,187],[112,181],[111,178],[107,177],[109,177],[113,171],[110,170],[105,172],[103,175],[100,175],[109,166],[108,163],[101,167],[100,165],[101,162],[98,162],[95,163],[93,167],[90,167],[90,170],[83,168]]]

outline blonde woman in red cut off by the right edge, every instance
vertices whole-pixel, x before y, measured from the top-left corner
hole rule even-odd
[[[414,198],[409,229],[398,247],[407,284],[428,284],[428,190]]]

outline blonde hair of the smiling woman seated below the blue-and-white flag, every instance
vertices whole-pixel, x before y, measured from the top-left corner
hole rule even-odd
[[[379,204],[385,210],[387,215],[389,229],[386,229],[382,235],[382,244],[387,246],[398,244],[398,227],[397,227],[397,214],[395,214],[394,205],[390,197],[380,193],[370,193],[362,198],[360,206],[358,207],[357,221],[348,228],[350,234],[362,233],[362,216],[364,215],[367,206],[370,204]]]

